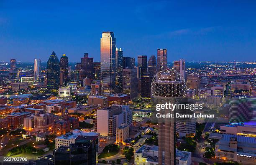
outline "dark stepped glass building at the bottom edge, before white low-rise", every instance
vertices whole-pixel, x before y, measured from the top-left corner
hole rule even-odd
[[[97,136],[78,136],[74,144],[54,151],[55,165],[96,165],[98,144]]]

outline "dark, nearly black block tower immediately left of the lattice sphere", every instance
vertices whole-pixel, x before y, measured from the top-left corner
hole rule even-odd
[[[141,97],[150,98],[150,87],[154,75],[143,75],[141,76]]]

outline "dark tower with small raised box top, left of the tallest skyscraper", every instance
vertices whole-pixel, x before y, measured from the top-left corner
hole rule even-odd
[[[86,77],[93,80],[93,58],[89,58],[88,53],[84,53],[84,57],[81,58],[81,72],[82,80]]]

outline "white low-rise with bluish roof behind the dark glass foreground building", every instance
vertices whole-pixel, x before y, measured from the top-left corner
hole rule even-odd
[[[65,135],[61,135],[55,138],[55,148],[59,148],[60,146],[69,147],[70,144],[75,142],[75,139],[79,136],[99,136],[99,133],[94,132],[86,132],[81,130],[73,130]],[[100,145],[100,144],[99,144]]]

